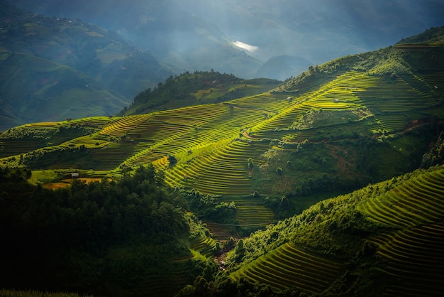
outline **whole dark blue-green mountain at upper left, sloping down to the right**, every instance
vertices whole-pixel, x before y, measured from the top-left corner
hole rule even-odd
[[[30,121],[110,115],[170,75],[116,33],[1,1],[0,130]]]

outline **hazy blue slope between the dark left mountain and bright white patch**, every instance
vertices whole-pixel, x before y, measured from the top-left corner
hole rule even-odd
[[[209,70],[251,78],[260,62],[235,47],[213,22],[183,9],[175,1],[19,3],[33,11],[82,18],[118,31],[138,48],[155,53],[174,73]],[[186,4],[185,4],[186,6]],[[162,77],[165,78],[165,77]],[[160,81],[160,80],[159,80]]]

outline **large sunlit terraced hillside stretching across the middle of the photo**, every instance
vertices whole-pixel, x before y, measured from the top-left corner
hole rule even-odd
[[[236,196],[239,205],[265,209],[262,220],[253,220],[239,207],[238,215],[245,216],[238,222],[267,224],[273,220],[270,210],[287,217],[332,193],[418,168],[442,130],[444,51],[435,36],[440,30],[434,29],[430,43],[399,43],[340,58],[271,92],[228,102],[19,126],[1,134],[1,161],[33,169],[75,168],[88,176],[153,163],[174,187],[218,195],[221,202]],[[432,58],[436,63],[428,62]],[[220,74],[199,72],[192,81],[206,75]],[[141,93],[138,106],[162,106],[169,96],[172,104],[182,104],[174,95],[184,94],[179,87],[187,85],[182,80],[188,76],[167,80],[165,86],[177,90],[160,85]],[[223,85],[198,84],[196,90],[184,102],[196,94],[217,101],[212,95]],[[60,130],[79,132],[52,139]],[[21,148],[20,141],[29,146]]]

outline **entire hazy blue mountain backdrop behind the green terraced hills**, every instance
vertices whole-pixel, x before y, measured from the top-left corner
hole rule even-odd
[[[1,0],[0,6],[0,130],[116,114],[139,92],[187,71],[285,80],[310,65],[442,26],[444,15],[444,4],[433,0]]]

